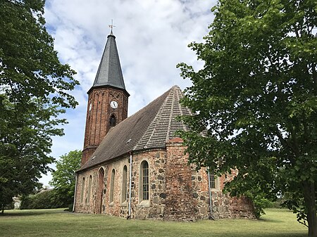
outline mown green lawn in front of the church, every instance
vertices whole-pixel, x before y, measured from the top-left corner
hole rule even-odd
[[[55,210],[10,210],[0,214],[0,236],[270,236],[302,237],[305,226],[287,210],[268,209],[260,220],[222,219],[189,223],[126,220]]]

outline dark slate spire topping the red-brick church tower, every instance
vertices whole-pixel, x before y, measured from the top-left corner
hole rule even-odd
[[[111,33],[102,54],[99,68],[92,88],[110,86],[125,90],[125,82],[123,81],[122,70],[116,45],[116,37]],[[89,91],[91,91],[89,89]],[[89,93],[88,91],[88,93]]]

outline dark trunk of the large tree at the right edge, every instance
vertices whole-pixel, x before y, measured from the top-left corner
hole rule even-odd
[[[307,210],[307,222],[309,226],[309,237],[317,237],[315,184],[314,182],[303,181],[303,186],[304,200]]]

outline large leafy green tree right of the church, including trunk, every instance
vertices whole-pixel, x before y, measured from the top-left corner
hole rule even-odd
[[[192,80],[181,132],[191,162],[218,174],[238,169],[231,195],[276,196],[317,236],[317,39],[312,0],[220,0]],[[205,131],[205,132],[204,132]],[[259,205],[261,209],[261,204]]]

